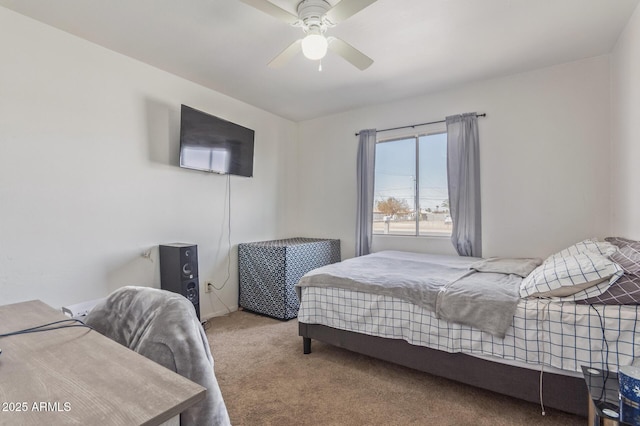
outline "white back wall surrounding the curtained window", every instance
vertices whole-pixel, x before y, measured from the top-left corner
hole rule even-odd
[[[609,79],[604,56],[303,122],[298,227],[341,238],[352,257],[354,133],[476,111],[487,114],[479,119],[484,256],[542,257],[605,237]],[[386,248],[454,253],[448,239],[374,237],[374,251]]]

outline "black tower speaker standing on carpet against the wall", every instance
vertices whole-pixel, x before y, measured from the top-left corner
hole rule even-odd
[[[198,246],[182,243],[160,246],[160,287],[189,299],[200,319]]]

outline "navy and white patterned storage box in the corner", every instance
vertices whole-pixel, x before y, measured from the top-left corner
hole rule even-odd
[[[340,261],[340,240],[289,238],[238,244],[240,306],[279,319],[298,315],[294,286],[312,269]]]

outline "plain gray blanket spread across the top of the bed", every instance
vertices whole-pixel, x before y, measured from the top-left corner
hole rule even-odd
[[[296,291],[299,298],[302,287],[391,296],[502,338],[513,322],[522,278],[471,270],[480,260],[383,251],[314,269],[300,279]]]

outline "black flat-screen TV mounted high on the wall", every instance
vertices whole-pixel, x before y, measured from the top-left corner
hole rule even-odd
[[[180,167],[252,177],[254,135],[251,129],[182,105]]]

